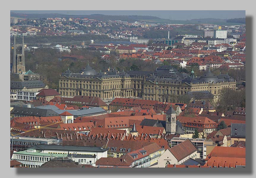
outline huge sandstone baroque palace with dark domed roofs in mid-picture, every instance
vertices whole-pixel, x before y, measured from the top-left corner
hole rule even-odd
[[[171,66],[161,66],[154,72],[117,71],[107,69],[99,73],[89,65],[73,73],[69,69],[60,75],[59,93],[63,97],[97,96],[102,100],[142,98],[160,102],[178,102],[178,96],[189,91],[209,91],[217,102],[222,88],[235,90],[236,81],[228,74],[215,76],[206,71],[200,77],[180,73]]]

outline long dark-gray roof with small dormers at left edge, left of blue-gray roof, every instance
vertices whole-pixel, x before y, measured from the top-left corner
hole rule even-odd
[[[27,108],[27,107],[13,107],[10,112],[11,114],[29,115],[29,116],[59,116],[57,112],[50,109],[38,109],[38,108]]]

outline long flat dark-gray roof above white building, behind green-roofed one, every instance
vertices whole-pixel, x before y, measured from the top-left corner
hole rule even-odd
[[[69,146],[69,145],[45,145],[38,144],[29,149],[35,150],[67,150],[67,151],[88,151],[88,152],[105,152],[108,148],[88,147],[88,146]]]

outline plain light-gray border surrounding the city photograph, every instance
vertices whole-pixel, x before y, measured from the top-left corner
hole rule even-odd
[[[73,176],[101,176],[101,177],[130,177],[130,176],[189,176],[189,177],[255,177],[255,120],[253,112],[255,108],[255,1],[233,0],[233,1],[8,1],[1,4],[1,174],[3,177],[73,177]],[[10,81],[10,10],[246,10],[246,168],[244,169],[166,169],[166,168],[88,168],[88,169],[12,169],[10,168],[9,156],[9,81]],[[167,17],[169,18],[169,17]],[[203,15],[202,15],[203,18]],[[172,17],[174,20],[175,18]],[[7,94],[8,93],[8,94]],[[7,104],[6,104],[7,102]],[[4,126],[8,125],[8,126]],[[161,174],[161,175],[159,175]]]

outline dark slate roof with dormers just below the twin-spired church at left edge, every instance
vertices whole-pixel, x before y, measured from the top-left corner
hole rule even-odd
[[[32,80],[32,81],[24,81],[24,82],[17,82],[17,81],[11,81],[10,82],[11,87],[15,89],[23,89],[26,88],[45,88],[45,84],[40,80]]]

